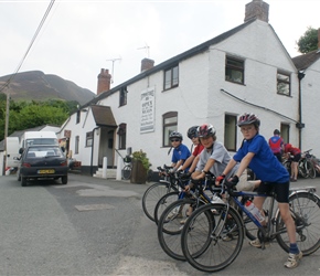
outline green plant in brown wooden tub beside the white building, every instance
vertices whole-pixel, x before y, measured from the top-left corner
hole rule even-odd
[[[131,183],[146,183],[147,174],[151,163],[147,153],[141,149],[139,151],[132,152],[132,173],[131,173]]]

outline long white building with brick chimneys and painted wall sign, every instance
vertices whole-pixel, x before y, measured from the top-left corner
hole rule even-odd
[[[319,66],[314,64],[316,75]],[[301,88],[316,94],[316,83]],[[145,59],[141,73],[121,85],[110,88],[110,75],[102,70],[97,92],[60,132],[83,172],[95,173],[104,157],[116,167],[116,149],[125,156],[127,148],[147,152],[152,169],[170,164],[169,134],[182,132],[191,146],[188,128],[204,123],[212,124],[217,139],[234,152],[242,142],[236,120],[245,112],[259,116],[266,138],[278,128],[287,142],[302,141],[302,149],[314,147],[320,156],[320,147],[316,151],[313,146],[316,128],[306,130],[309,120],[317,124],[314,118],[301,120],[298,71],[268,23],[268,4],[262,0],[246,4],[243,24],[157,66]],[[301,103],[307,105],[305,98]],[[313,106],[310,99],[302,110]]]

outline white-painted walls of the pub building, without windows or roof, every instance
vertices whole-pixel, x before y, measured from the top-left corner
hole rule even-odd
[[[226,55],[245,60],[245,85],[225,81]],[[313,88],[311,88],[306,84],[309,89],[312,89],[310,94],[314,94],[314,86],[319,85],[319,77],[317,78],[319,64],[318,67],[312,68],[313,73],[307,74],[310,77],[309,83],[313,85]],[[291,74],[290,97],[277,94],[277,70]],[[140,94],[148,87],[154,87],[156,89],[154,131],[140,134]],[[179,63],[179,87],[170,91],[163,91],[162,87],[163,71],[160,71],[127,86],[128,104],[126,106],[119,107],[118,92],[97,103],[111,107],[117,125],[127,124],[127,147],[131,147],[132,151],[140,149],[146,151],[153,170],[163,163],[171,163],[171,155],[168,156],[169,148],[162,147],[162,115],[168,112],[178,112],[178,130],[184,136],[183,142],[189,148],[191,147],[186,137],[189,127],[204,123],[213,124],[217,130],[217,140],[223,141],[225,114],[238,116],[245,112],[255,113],[259,116],[262,120],[260,134],[266,139],[273,136],[275,128],[280,128],[280,124],[286,123],[290,125],[290,142],[298,144],[298,129],[295,123],[295,120],[298,120],[296,67],[273,28],[266,22],[256,21],[230,39],[212,45],[209,51],[181,61]],[[247,103],[262,106],[264,109],[236,100],[222,93],[221,89],[225,89]],[[318,99],[316,95],[313,96]],[[312,105],[313,100],[309,100],[303,99],[306,105],[303,109],[314,106],[314,104]],[[276,113],[282,114],[292,120]],[[73,157],[82,161],[84,166],[89,166],[92,148],[85,147],[85,135],[95,128],[95,121],[90,109],[86,114],[82,113],[81,124],[76,125],[75,118],[76,115],[73,115],[64,128],[72,130],[70,145],[73,152],[75,136],[81,137],[79,153],[74,153]],[[309,129],[309,126],[311,126],[309,120],[314,126],[312,129]],[[317,123],[311,115],[310,117],[305,115],[303,121],[306,123],[306,129],[303,129],[302,140],[306,142],[310,139],[310,144],[306,144],[306,147],[310,145],[310,147],[316,148],[311,145],[314,144],[312,137],[317,136]],[[307,135],[308,139],[305,138]],[[238,131],[238,146],[241,141],[242,135]],[[98,139],[95,137],[94,166],[97,163],[98,147]],[[116,140],[116,148],[118,148],[118,140]],[[121,153],[125,156],[126,151],[122,150]],[[117,155],[114,164],[117,166]]]

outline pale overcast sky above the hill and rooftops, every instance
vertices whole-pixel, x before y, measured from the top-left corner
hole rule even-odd
[[[0,0],[0,76],[42,71],[94,93],[102,68],[111,87],[244,23],[252,0]],[[265,0],[269,23],[291,57],[308,26],[320,28],[319,0]],[[23,60],[24,57],[24,60]]]

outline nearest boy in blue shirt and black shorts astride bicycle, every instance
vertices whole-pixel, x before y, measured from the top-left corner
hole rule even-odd
[[[260,120],[255,114],[243,114],[238,118],[237,126],[244,136],[243,144],[217,180],[221,182],[239,162],[237,172],[228,182],[237,184],[242,172],[249,167],[256,173],[257,178],[262,180],[257,189],[258,193],[266,193],[275,189],[276,200],[278,201],[281,219],[287,226],[290,242],[289,257],[285,263],[285,267],[295,268],[302,258],[302,252],[297,246],[296,226],[289,211],[289,173],[274,157],[266,139],[259,135]],[[254,204],[260,212],[265,199],[265,197],[256,197],[254,199]],[[262,213],[264,214],[264,212]],[[257,248],[262,247],[258,238],[252,241],[249,244]]]

